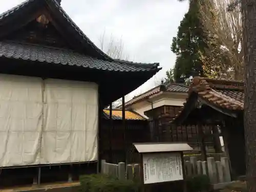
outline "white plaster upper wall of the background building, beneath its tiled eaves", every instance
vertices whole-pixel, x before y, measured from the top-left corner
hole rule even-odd
[[[134,110],[138,114],[146,117],[144,112],[152,109],[151,102],[153,102],[153,109],[163,105],[183,106],[183,103],[186,102],[186,98],[187,93],[162,93],[148,100],[136,102],[128,106],[127,109]]]

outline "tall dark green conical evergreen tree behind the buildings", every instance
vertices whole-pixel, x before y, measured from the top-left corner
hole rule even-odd
[[[204,76],[203,63],[199,52],[206,48],[206,34],[199,18],[198,1],[189,1],[189,10],[173,38],[171,50],[177,55],[174,67],[175,81],[186,81],[191,76]]]

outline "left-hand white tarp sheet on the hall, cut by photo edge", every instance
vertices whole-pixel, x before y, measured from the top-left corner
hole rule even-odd
[[[0,166],[39,164],[42,80],[0,74]]]

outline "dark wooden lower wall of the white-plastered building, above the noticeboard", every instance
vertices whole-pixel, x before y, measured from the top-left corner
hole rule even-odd
[[[200,133],[195,123],[181,126],[172,125],[173,118],[182,110],[181,106],[160,106],[159,108],[147,111],[145,114],[151,117],[150,130],[151,141],[153,142],[187,142],[194,149],[200,149]],[[218,132],[217,125],[203,125],[206,147],[211,150],[215,148],[214,134]]]

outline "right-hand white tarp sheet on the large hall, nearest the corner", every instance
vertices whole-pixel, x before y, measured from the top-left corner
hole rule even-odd
[[[41,163],[97,160],[97,84],[47,79],[44,100]]]

